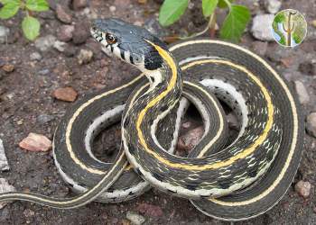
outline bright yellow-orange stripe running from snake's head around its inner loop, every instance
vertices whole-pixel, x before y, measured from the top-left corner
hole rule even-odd
[[[177,69],[176,69],[176,66],[175,66],[175,63],[174,63],[172,57],[164,49],[160,48],[159,46],[154,45],[153,43],[151,43],[151,44],[153,45],[153,47],[155,49],[158,50],[159,54],[167,62],[168,66],[172,68],[172,79],[171,79],[171,82],[168,85],[167,89],[165,91],[163,91],[162,94],[159,94],[155,99],[153,99],[152,102],[148,103],[147,106],[144,108],[144,110],[142,110],[140,112],[139,117],[137,119],[136,130],[138,132],[139,141],[143,145],[145,151],[152,154],[153,157],[157,158],[160,162],[162,162],[166,166],[170,166],[170,167],[174,167],[174,168],[183,168],[183,169],[188,169],[188,170],[205,170],[205,169],[216,169],[216,168],[222,167],[222,166],[229,166],[232,163],[234,163],[237,159],[245,158],[245,157],[249,156],[250,154],[252,154],[256,150],[256,148],[258,146],[260,146],[265,141],[265,139],[268,135],[268,132],[269,132],[269,130],[271,130],[273,123],[274,123],[274,105],[272,103],[270,94],[268,93],[267,89],[265,88],[265,85],[262,84],[262,82],[260,81],[260,79],[258,77],[256,77],[252,72],[247,70],[246,67],[242,67],[242,66],[239,66],[235,63],[221,60],[221,59],[205,59],[205,60],[200,60],[200,61],[189,63],[188,65],[186,65],[186,67],[183,67],[183,69],[186,69],[187,67],[192,67],[194,65],[203,64],[203,63],[225,64],[225,65],[228,65],[230,67],[235,67],[235,68],[239,69],[240,71],[243,71],[244,73],[247,74],[247,76],[251,77],[254,80],[256,85],[258,85],[260,87],[262,93],[265,96],[265,101],[267,104],[267,112],[268,112],[267,113],[268,119],[266,121],[264,131],[258,137],[258,139],[256,139],[256,141],[253,143],[253,145],[249,146],[248,148],[245,148],[242,152],[240,152],[236,156],[230,157],[226,161],[221,161],[221,162],[216,162],[216,163],[206,164],[206,165],[201,165],[201,166],[185,165],[185,164],[181,164],[181,163],[173,163],[170,160],[168,160],[164,157],[161,157],[159,154],[157,154],[152,149],[148,148],[147,143],[144,140],[143,132],[140,129],[140,125],[144,119],[144,114],[145,114],[145,112],[147,112],[147,110],[149,108],[153,107],[153,105],[155,103],[158,103],[166,94],[168,94],[168,92],[172,89],[173,85],[175,85],[176,76],[177,76]]]

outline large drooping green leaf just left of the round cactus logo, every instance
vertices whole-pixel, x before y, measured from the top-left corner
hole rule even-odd
[[[249,19],[250,12],[246,6],[232,4],[229,14],[220,29],[220,38],[237,42],[240,40]]]

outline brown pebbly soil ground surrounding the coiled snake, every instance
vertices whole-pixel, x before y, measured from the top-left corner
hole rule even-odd
[[[200,1],[191,1],[186,16],[170,29],[162,29],[157,23],[159,2],[162,1],[49,2],[51,9],[38,14],[42,31],[35,42],[23,38],[22,14],[0,21],[0,139],[10,166],[9,171],[1,173],[5,179],[0,179],[0,183],[7,181],[17,190],[69,197],[73,194],[61,180],[49,150],[56,125],[70,102],[99,88],[124,83],[127,77],[137,73],[101,52],[98,43],[89,36],[88,22],[97,17],[115,16],[144,25],[161,36],[199,31],[206,22],[200,14]],[[278,11],[279,1],[237,2],[246,4],[253,16],[240,44],[266,58],[294,85],[306,117],[302,162],[288,193],[273,210],[237,224],[315,224],[316,1],[306,0],[302,4],[302,1],[289,0],[281,4],[281,9],[299,10],[308,23],[308,35],[295,49],[280,47],[256,26],[265,27],[263,18],[271,15],[263,14]],[[218,11],[219,26],[223,13],[223,10]],[[189,122],[183,127],[189,130],[196,127],[190,124],[195,123]],[[102,142],[107,146],[103,148],[105,151],[116,148],[118,129],[115,126],[105,131],[96,148]],[[31,132],[44,137],[31,135],[25,139]],[[32,148],[40,151],[22,149],[31,148],[30,139],[41,142],[41,148]],[[5,162],[4,157],[0,157],[2,161]],[[1,169],[7,170],[7,166]],[[138,224],[228,224],[201,214],[187,200],[156,190],[131,202],[92,202],[76,210],[54,210],[27,202],[9,203],[0,209],[1,224],[130,224],[131,221]]]

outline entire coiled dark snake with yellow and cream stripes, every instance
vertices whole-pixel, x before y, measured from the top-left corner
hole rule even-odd
[[[60,121],[53,157],[79,195],[2,193],[0,202],[68,209],[93,200],[131,200],[153,186],[190,199],[211,217],[246,220],[280,201],[300,163],[302,116],[292,87],[264,59],[219,40],[183,40],[168,47],[118,19],[96,20],[91,34],[109,56],[142,74],[83,97]],[[218,100],[241,124],[232,143]],[[205,131],[188,157],[178,157],[172,153],[189,103],[200,112]],[[91,143],[121,118],[116,160],[102,162]]]

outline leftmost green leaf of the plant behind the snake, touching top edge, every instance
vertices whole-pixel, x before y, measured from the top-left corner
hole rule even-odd
[[[159,12],[159,23],[169,26],[179,20],[188,7],[189,0],[164,0]]]

